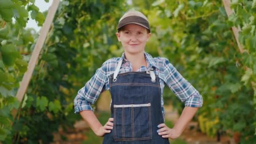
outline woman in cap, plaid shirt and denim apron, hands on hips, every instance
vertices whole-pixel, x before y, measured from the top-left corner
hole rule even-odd
[[[74,101],[75,113],[80,113],[97,136],[104,136],[104,144],[169,144],[168,138],[178,138],[202,107],[202,96],[168,59],[152,58],[145,52],[151,35],[146,16],[128,11],[117,30],[125,52],[121,58],[105,61],[80,89]],[[165,84],[185,103],[173,128],[164,123]],[[104,90],[110,91],[112,101],[111,117],[102,126],[90,104]]]

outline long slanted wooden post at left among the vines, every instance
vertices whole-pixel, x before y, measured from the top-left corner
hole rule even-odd
[[[29,81],[32,77],[32,73],[35,69],[35,65],[37,63],[37,59],[38,56],[40,54],[40,51],[43,47],[43,43],[45,42],[47,33],[50,29],[51,23],[53,21],[54,15],[57,11],[57,8],[59,6],[59,2],[60,0],[53,0],[53,3],[51,5],[51,7],[49,8],[48,14],[46,16],[45,22],[43,23],[43,27],[40,30],[40,35],[37,39],[37,43],[35,44],[35,48],[32,52],[31,58],[29,60],[29,64],[28,64],[28,68],[27,68],[27,72],[25,72],[22,81],[20,83],[20,87],[19,90],[16,94],[17,99],[19,100],[19,102],[22,101],[24,94],[27,91],[27,86],[29,84]]]

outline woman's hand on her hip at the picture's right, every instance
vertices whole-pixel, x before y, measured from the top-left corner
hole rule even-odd
[[[157,130],[157,133],[163,138],[176,139],[181,135],[176,129],[168,128],[164,123],[157,125],[157,127],[160,128]]]

